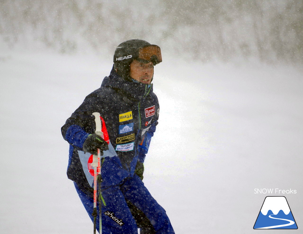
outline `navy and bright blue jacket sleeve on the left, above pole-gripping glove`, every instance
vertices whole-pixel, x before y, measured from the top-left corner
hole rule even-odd
[[[95,117],[92,113],[97,112],[100,108],[97,100],[96,92],[88,95],[61,128],[63,138],[78,150],[83,150],[83,142],[95,130]]]

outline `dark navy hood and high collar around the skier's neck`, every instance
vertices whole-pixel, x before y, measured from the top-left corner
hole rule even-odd
[[[153,92],[152,84],[145,85],[141,82],[135,83],[125,80],[118,75],[114,67],[112,68],[110,75],[103,79],[101,87],[110,87],[116,92],[121,93],[122,96],[126,96],[128,99],[138,101],[147,96],[149,93]]]

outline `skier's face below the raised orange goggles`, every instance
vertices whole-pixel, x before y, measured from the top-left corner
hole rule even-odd
[[[152,62],[142,63],[134,60],[130,65],[130,77],[143,84],[150,84],[154,75],[154,65]]]

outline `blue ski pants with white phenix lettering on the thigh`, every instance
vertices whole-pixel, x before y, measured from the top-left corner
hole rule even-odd
[[[92,216],[93,195],[83,191],[75,183],[78,195]],[[170,234],[175,233],[165,210],[148,192],[138,175],[126,178],[121,184],[102,187],[102,234]],[[97,208],[99,204],[97,204]],[[99,210],[96,220],[99,231]],[[137,225],[138,224],[138,225]]]

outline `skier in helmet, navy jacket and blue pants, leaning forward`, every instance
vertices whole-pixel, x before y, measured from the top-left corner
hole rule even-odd
[[[118,45],[113,61],[101,87],[86,96],[62,126],[70,144],[68,178],[93,220],[88,160],[101,149],[102,233],[138,233],[138,228],[140,234],[175,233],[165,210],[142,182],[143,162],[158,124],[159,104],[151,81],[154,65],[162,62],[160,47],[128,40]],[[95,134],[93,112],[104,119],[109,142]],[[96,223],[99,231],[98,216]]]

